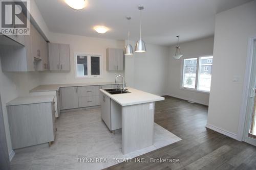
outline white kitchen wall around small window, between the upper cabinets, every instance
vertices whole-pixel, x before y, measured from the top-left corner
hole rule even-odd
[[[50,33],[50,42],[70,44],[70,71],[40,72],[41,84],[114,82],[123,71],[106,71],[106,48],[123,48],[124,41]],[[102,55],[102,78],[75,78],[74,53]]]

